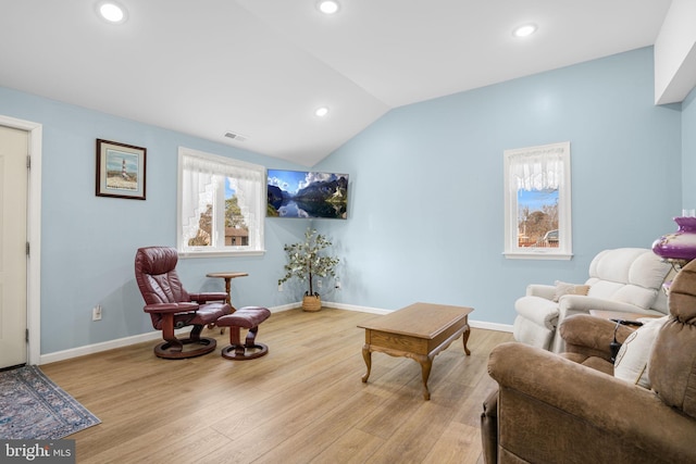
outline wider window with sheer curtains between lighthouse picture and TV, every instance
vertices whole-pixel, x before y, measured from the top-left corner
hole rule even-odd
[[[179,254],[263,253],[264,188],[263,166],[179,147]]]

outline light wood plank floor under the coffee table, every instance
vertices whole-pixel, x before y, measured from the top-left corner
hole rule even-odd
[[[422,397],[420,365],[361,354],[374,314],[324,309],[273,314],[252,361],[224,360],[228,335],[204,330],[217,349],[160,360],[154,342],[40,366],[101,424],[70,437],[77,463],[482,463],[481,405],[495,381],[490,350],[512,335],[472,329],[433,362]]]

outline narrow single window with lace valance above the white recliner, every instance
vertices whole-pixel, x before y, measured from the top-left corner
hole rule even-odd
[[[505,151],[505,255],[570,260],[570,142]]]

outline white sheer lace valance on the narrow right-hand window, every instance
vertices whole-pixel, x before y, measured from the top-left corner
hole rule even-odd
[[[512,191],[558,189],[563,179],[562,148],[549,147],[510,156]]]

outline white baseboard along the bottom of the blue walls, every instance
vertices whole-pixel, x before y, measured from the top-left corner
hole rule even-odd
[[[337,310],[358,311],[361,313],[372,314],[388,314],[391,311],[383,310],[380,308],[358,306],[355,304],[334,303],[326,301],[322,303],[326,308],[335,308]],[[283,304],[281,306],[269,308],[272,313],[281,313],[283,311],[289,311],[297,308],[301,308],[302,302]],[[473,328],[483,328],[487,330],[509,331],[512,333],[512,326],[508,324],[495,324],[480,321],[470,321],[469,325]],[[187,334],[188,329],[176,330],[176,334]],[[86,354],[99,353],[101,351],[113,350],[115,348],[128,347],[130,344],[141,343],[144,341],[161,340],[162,333],[160,330],[149,331],[147,334],[134,335],[132,337],[119,338],[115,340],[103,341],[101,343],[86,344],[84,347],[71,348],[70,350],[55,351],[53,353],[41,354],[39,358],[39,364],[55,363],[58,361],[65,361],[77,356],[84,356]]]

